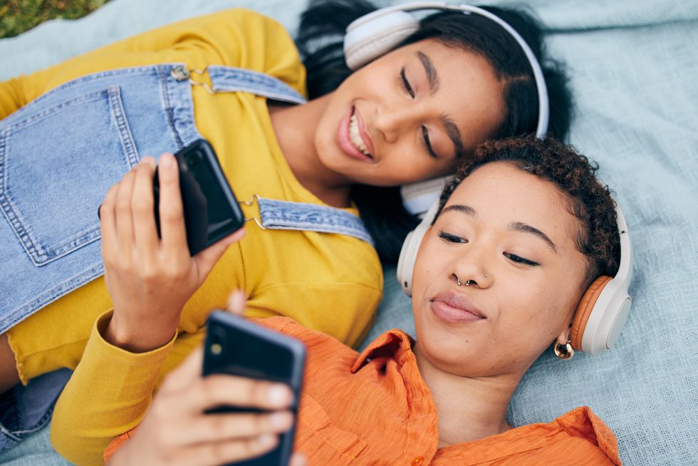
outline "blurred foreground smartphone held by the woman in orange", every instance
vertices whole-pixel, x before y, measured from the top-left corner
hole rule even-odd
[[[293,416],[298,414],[306,346],[291,336],[250,322],[225,311],[209,316],[204,343],[204,376],[232,374],[247,378],[286,383],[293,390]],[[221,406],[209,413],[255,412],[256,408]],[[236,462],[244,466],[286,466],[291,459],[296,423],[279,437],[271,452],[251,460]],[[231,463],[232,464],[232,463]]]

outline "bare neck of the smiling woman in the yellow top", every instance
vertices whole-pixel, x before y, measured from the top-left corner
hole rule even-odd
[[[269,105],[271,125],[281,152],[296,180],[323,202],[335,207],[349,204],[350,182],[329,170],[318,157],[315,130],[328,102],[328,95],[304,105]]]

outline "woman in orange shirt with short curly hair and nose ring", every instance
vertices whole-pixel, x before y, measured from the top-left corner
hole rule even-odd
[[[536,358],[551,344],[561,358],[573,353],[573,318],[588,287],[618,273],[615,204],[594,173],[554,140],[479,147],[444,190],[420,245],[416,341],[387,331],[358,354],[291,319],[260,321],[308,348],[296,434],[308,464],[620,464],[615,436],[589,408],[548,424],[506,420]],[[201,378],[201,357],[171,373],[140,428],[110,445],[110,465],[219,464],[274,446],[274,433],[292,422],[290,392]],[[271,413],[202,415],[222,403]]]

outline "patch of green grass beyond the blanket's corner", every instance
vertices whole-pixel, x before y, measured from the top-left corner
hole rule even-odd
[[[12,37],[49,19],[77,19],[109,0],[0,0],[0,38]]]

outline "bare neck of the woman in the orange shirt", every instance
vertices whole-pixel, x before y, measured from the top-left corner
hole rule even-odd
[[[479,440],[510,430],[506,410],[523,373],[464,377],[427,361],[415,344],[417,366],[439,415],[439,448]]]

